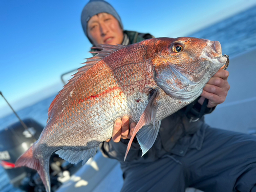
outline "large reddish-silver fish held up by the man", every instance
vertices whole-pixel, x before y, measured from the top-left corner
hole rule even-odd
[[[161,120],[197,99],[227,63],[219,41],[193,37],[152,38],[129,46],[97,45],[97,53],[51,103],[39,139],[16,161],[36,169],[50,191],[49,159],[56,153],[85,164],[112,137],[115,120],[136,122],[144,155],[154,144]]]

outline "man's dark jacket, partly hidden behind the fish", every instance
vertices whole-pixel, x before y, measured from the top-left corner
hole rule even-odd
[[[147,38],[153,38],[150,34],[134,31],[124,31],[124,34],[126,34],[125,38],[129,38],[129,42],[124,38],[126,45]],[[155,161],[166,154],[184,156],[188,148],[200,150],[204,138],[204,130],[207,127],[202,116],[211,113],[213,110],[213,108],[202,109],[202,106],[196,100],[173,115],[163,119],[154,145],[143,157],[141,157],[142,152],[136,139],[132,143],[125,162],[123,162],[123,159],[129,139],[121,139],[118,143],[113,142],[113,140],[103,142],[100,144],[101,151],[106,157],[120,161],[122,169],[129,167],[133,163]],[[195,119],[197,121],[193,121]]]

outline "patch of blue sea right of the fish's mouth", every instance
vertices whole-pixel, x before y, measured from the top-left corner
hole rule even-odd
[[[256,47],[256,6],[189,36],[220,41],[230,57],[249,51]]]

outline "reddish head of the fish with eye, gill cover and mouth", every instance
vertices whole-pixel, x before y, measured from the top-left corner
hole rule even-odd
[[[192,37],[159,38],[155,42],[154,70],[158,86],[170,96],[191,99],[201,94],[210,77],[227,58],[222,56],[219,41]]]

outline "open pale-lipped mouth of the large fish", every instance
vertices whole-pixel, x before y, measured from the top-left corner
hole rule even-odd
[[[221,66],[226,65],[228,58],[222,55],[221,44],[219,41],[206,40],[207,46],[202,52],[201,57],[209,59],[213,63],[219,63]]]

